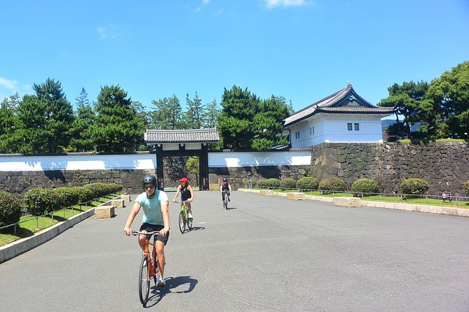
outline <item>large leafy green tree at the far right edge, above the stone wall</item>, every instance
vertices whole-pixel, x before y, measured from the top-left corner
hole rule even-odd
[[[428,134],[467,138],[469,134],[469,61],[445,71],[430,83],[421,119]],[[438,122],[435,125],[435,120]]]

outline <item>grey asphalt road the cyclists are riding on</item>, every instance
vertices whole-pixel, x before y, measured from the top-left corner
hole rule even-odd
[[[220,201],[217,192],[196,192],[186,234],[170,204],[167,286],[151,289],[149,308],[469,311],[469,218],[244,192],[233,192],[229,211]],[[0,309],[146,310],[137,239],[123,234],[129,210],[88,218],[1,264]]]

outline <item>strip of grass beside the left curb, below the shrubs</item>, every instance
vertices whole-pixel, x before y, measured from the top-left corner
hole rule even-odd
[[[90,208],[99,206],[105,203],[106,201],[118,197],[119,195],[120,194],[114,194],[97,199],[96,201],[91,202],[91,204],[88,204],[88,206],[81,206],[81,211],[79,205],[73,206],[73,209],[67,208],[60,211],[55,211],[53,213],[54,218],[48,215],[46,217],[40,217],[36,219],[32,215],[25,215],[24,217],[20,218],[20,222],[25,220],[28,221],[22,222],[20,223],[20,225],[18,225],[18,227],[16,227],[16,235],[13,234],[13,230],[11,231],[12,234],[0,234],[0,246],[5,246],[8,243],[13,243],[13,241],[17,241],[18,239],[24,239],[25,237],[33,236],[34,233],[39,232],[42,229],[47,229],[48,227],[51,227],[57,224],[58,222],[62,222],[64,220],[67,220],[68,218],[73,217],[74,215],[82,213],[83,211],[87,211]]]

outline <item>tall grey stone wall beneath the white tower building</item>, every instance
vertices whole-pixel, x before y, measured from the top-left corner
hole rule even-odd
[[[430,184],[430,194],[446,190],[464,196],[469,144],[323,143],[313,146],[311,176],[318,180],[336,176],[347,187],[359,178],[373,178],[388,193],[398,193],[403,179],[423,178]]]

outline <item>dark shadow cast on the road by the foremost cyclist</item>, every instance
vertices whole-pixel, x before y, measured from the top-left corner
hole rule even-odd
[[[172,293],[172,294],[188,294],[194,288],[198,281],[195,278],[191,278],[190,276],[177,276],[177,277],[169,277],[165,279],[166,286],[164,288],[158,287],[154,285],[150,289],[150,297],[147,304],[144,308],[151,308],[156,306],[158,302],[161,302],[161,299],[165,297],[165,295]],[[182,286],[187,285],[186,290],[175,290],[176,288],[182,288]]]

